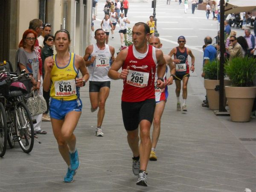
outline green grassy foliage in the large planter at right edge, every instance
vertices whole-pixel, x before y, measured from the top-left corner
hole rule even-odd
[[[231,61],[226,61],[225,71],[230,78],[231,86],[253,86],[253,80],[256,76],[256,59],[233,58]]]

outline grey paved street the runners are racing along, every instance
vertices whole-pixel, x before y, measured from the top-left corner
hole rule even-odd
[[[205,12],[183,13],[173,0],[170,6],[157,1],[158,31],[164,53],[176,46],[179,35],[196,57],[196,71],[189,79],[188,113],[176,111],[175,87],[169,86],[169,99],[162,117],[156,162],[148,165],[148,187],[136,186],[131,171],[131,151],[122,123],[120,97],[122,81],[112,81],[103,122],[104,137],[95,136],[96,112],[90,112],[88,86],[82,88],[83,112],[75,130],[81,167],[74,183],[63,183],[66,165],[62,160],[50,122],[43,122],[47,135],[40,135],[31,154],[19,146],[8,149],[0,159],[0,191],[6,192],[242,192],[256,191],[256,120],[230,122],[201,107],[205,90],[201,76],[204,37],[217,32],[217,23],[206,20]],[[99,3],[103,7],[103,3]],[[147,21],[150,3],[133,3],[128,11],[131,21]],[[191,7],[189,7],[191,8]],[[98,8],[98,19],[103,12]],[[189,9],[190,11],[190,9]],[[178,23],[171,23],[178,22]],[[96,28],[99,26],[97,20]],[[132,26],[132,25],[130,25]],[[118,28],[118,27],[117,27]],[[175,29],[174,29],[175,28]],[[186,29],[184,29],[186,28]],[[242,34],[242,31],[238,31]],[[109,44],[119,47],[119,34]]]

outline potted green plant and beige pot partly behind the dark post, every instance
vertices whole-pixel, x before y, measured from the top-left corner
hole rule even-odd
[[[209,61],[204,65],[204,88],[206,89],[207,99],[209,103],[209,109],[219,109],[219,68],[220,63],[218,60]],[[229,80],[224,80],[224,86],[230,85]],[[224,92],[224,105],[226,105],[226,97]]]

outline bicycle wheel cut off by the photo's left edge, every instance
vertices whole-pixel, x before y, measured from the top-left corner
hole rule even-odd
[[[6,113],[3,104],[0,102],[0,157],[3,157],[6,152],[7,145],[7,123]]]

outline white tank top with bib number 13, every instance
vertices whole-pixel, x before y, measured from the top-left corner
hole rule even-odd
[[[90,74],[89,81],[111,81],[108,77],[108,70],[112,63],[112,55],[108,44],[105,44],[104,50],[100,50],[97,44],[93,44],[93,52],[90,57],[91,56],[96,56],[96,58],[94,63],[88,66]]]

